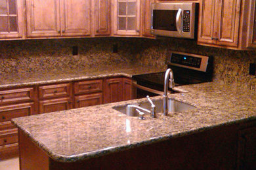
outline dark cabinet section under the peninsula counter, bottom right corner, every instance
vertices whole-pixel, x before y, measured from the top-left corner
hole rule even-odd
[[[256,169],[256,122],[238,131],[238,168]]]

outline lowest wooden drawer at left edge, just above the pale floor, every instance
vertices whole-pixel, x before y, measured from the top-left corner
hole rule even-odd
[[[0,146],[6,144],[18,143],[18,133],[16,129],[9,131],[1,131],[0,133]]]

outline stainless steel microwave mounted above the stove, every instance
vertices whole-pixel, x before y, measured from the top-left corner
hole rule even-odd
[[[194,39],[196,3],[152,3],[151,33]]]

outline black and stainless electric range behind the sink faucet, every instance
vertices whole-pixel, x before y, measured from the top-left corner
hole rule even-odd
[[[166,64],[173,70],[175,86],[212,81],[213,58],[210,56],[169,52]],[[164,76],[165,72],[133,76],[135,80],[133,86],[137,88],[137,99],[146,95],[163,95]]]

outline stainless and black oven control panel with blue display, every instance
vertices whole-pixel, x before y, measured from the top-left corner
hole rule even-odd
[[[208,59],[208,56],[187,54],[184,52],[171,52],[167,58],[167,64],[205,72]]]

